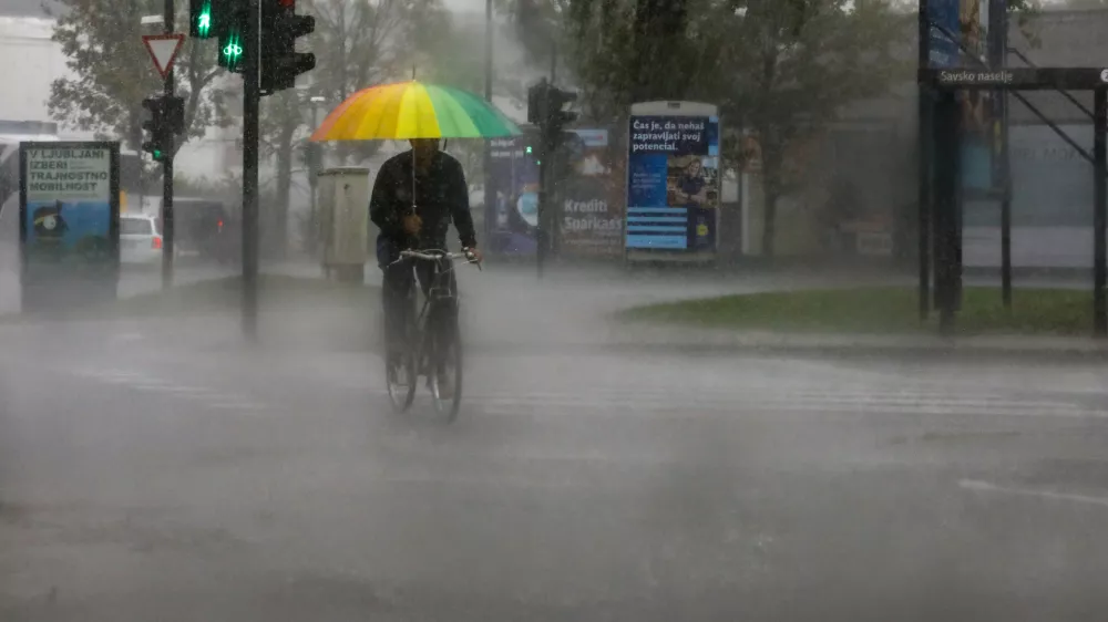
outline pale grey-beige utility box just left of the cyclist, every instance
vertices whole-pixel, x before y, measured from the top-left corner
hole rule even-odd
[[[328,278],[361,282],[369,258],[369,169],[319,172],[319,241]]]

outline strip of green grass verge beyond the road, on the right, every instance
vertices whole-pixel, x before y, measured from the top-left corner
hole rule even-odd
[[[933,331],[934,318],[923,323],[919,320],[916,296],[913,288],[896,287],[767,292],[636,307],[617,317],[792,333]],[[1081,290],[1015,290],[1012,309],[1006,310],[998,288],[965,288],[956,326],[967,334],[1087,335],[1092,330],[1092,294]]]

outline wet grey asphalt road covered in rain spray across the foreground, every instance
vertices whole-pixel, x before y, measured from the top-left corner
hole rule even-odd
[[[1098,366],[483,349],[524,329],[473,305],[452,426],[353,326],[0,328],[0,619],[1104,620]]]

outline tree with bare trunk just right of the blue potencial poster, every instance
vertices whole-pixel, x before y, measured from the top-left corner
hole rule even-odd
[[[762,252],[772,257],[777,203],[792,182],[786,168],[790,151],[847,105],[884,94],[897,72],[911,66],[894,56],[910,17],[884,2],[849,0],[749,0],[745,9],[727,20],[742,43],[724,48],[725,63],[736,71],[717,96],[721,114],[741,120],[758,137]]]

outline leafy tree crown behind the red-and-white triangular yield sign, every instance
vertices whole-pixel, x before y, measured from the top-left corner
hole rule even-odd
[[[150,33],[140,24],[145,14],[161,13],[154,0],[60,0],[53,40],[66,56],[70,75],[53,81],[48,106],[51,116],[85,132],[117,137],[132,149],[142,143],[143,99],[162,89],[142,43]],[[187,6],[187,3],[184,3]],[[178,23],[186,23],[183,11]],[[214,45],[188,40],[177,55],[177,94],[185,99],[185,132],[203,136],[213,123],[225,120],[208,89],[219,75]]]

